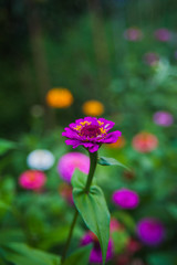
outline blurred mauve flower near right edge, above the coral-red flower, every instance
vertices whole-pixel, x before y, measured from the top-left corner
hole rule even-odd
[[[157,112],[154,114],[154,123],[164,127],[168,127],[174,123],[174,117],[168,112]]]

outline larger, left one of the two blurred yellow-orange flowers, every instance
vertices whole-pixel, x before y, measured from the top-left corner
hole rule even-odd
[[[53,108],[66,108],[73,103],[73,95],[67,88],[52,88],[46,94],[46,103]]]

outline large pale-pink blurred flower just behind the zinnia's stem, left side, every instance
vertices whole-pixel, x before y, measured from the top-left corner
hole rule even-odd
[[[69,152],[61,157],[58,171],[63,180],[70,183],[75,169],[87,174],[90,170],[90,158],[81,152]]]

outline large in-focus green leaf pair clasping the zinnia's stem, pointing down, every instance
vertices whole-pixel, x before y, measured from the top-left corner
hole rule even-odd
[[[75,171],[72,177],[74,203],[87,227],[97,236],[101,244],[103,264],[105,264],[110,240],[110,212],[101,188],[91,186],[90,192],[84,193],[84,174]]]

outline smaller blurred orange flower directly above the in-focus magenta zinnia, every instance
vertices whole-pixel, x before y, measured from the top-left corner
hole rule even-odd
[[[88,116],[101,116],[104,113],[104,105],[98,100],[87,100],[83,104],[82,110]]]

